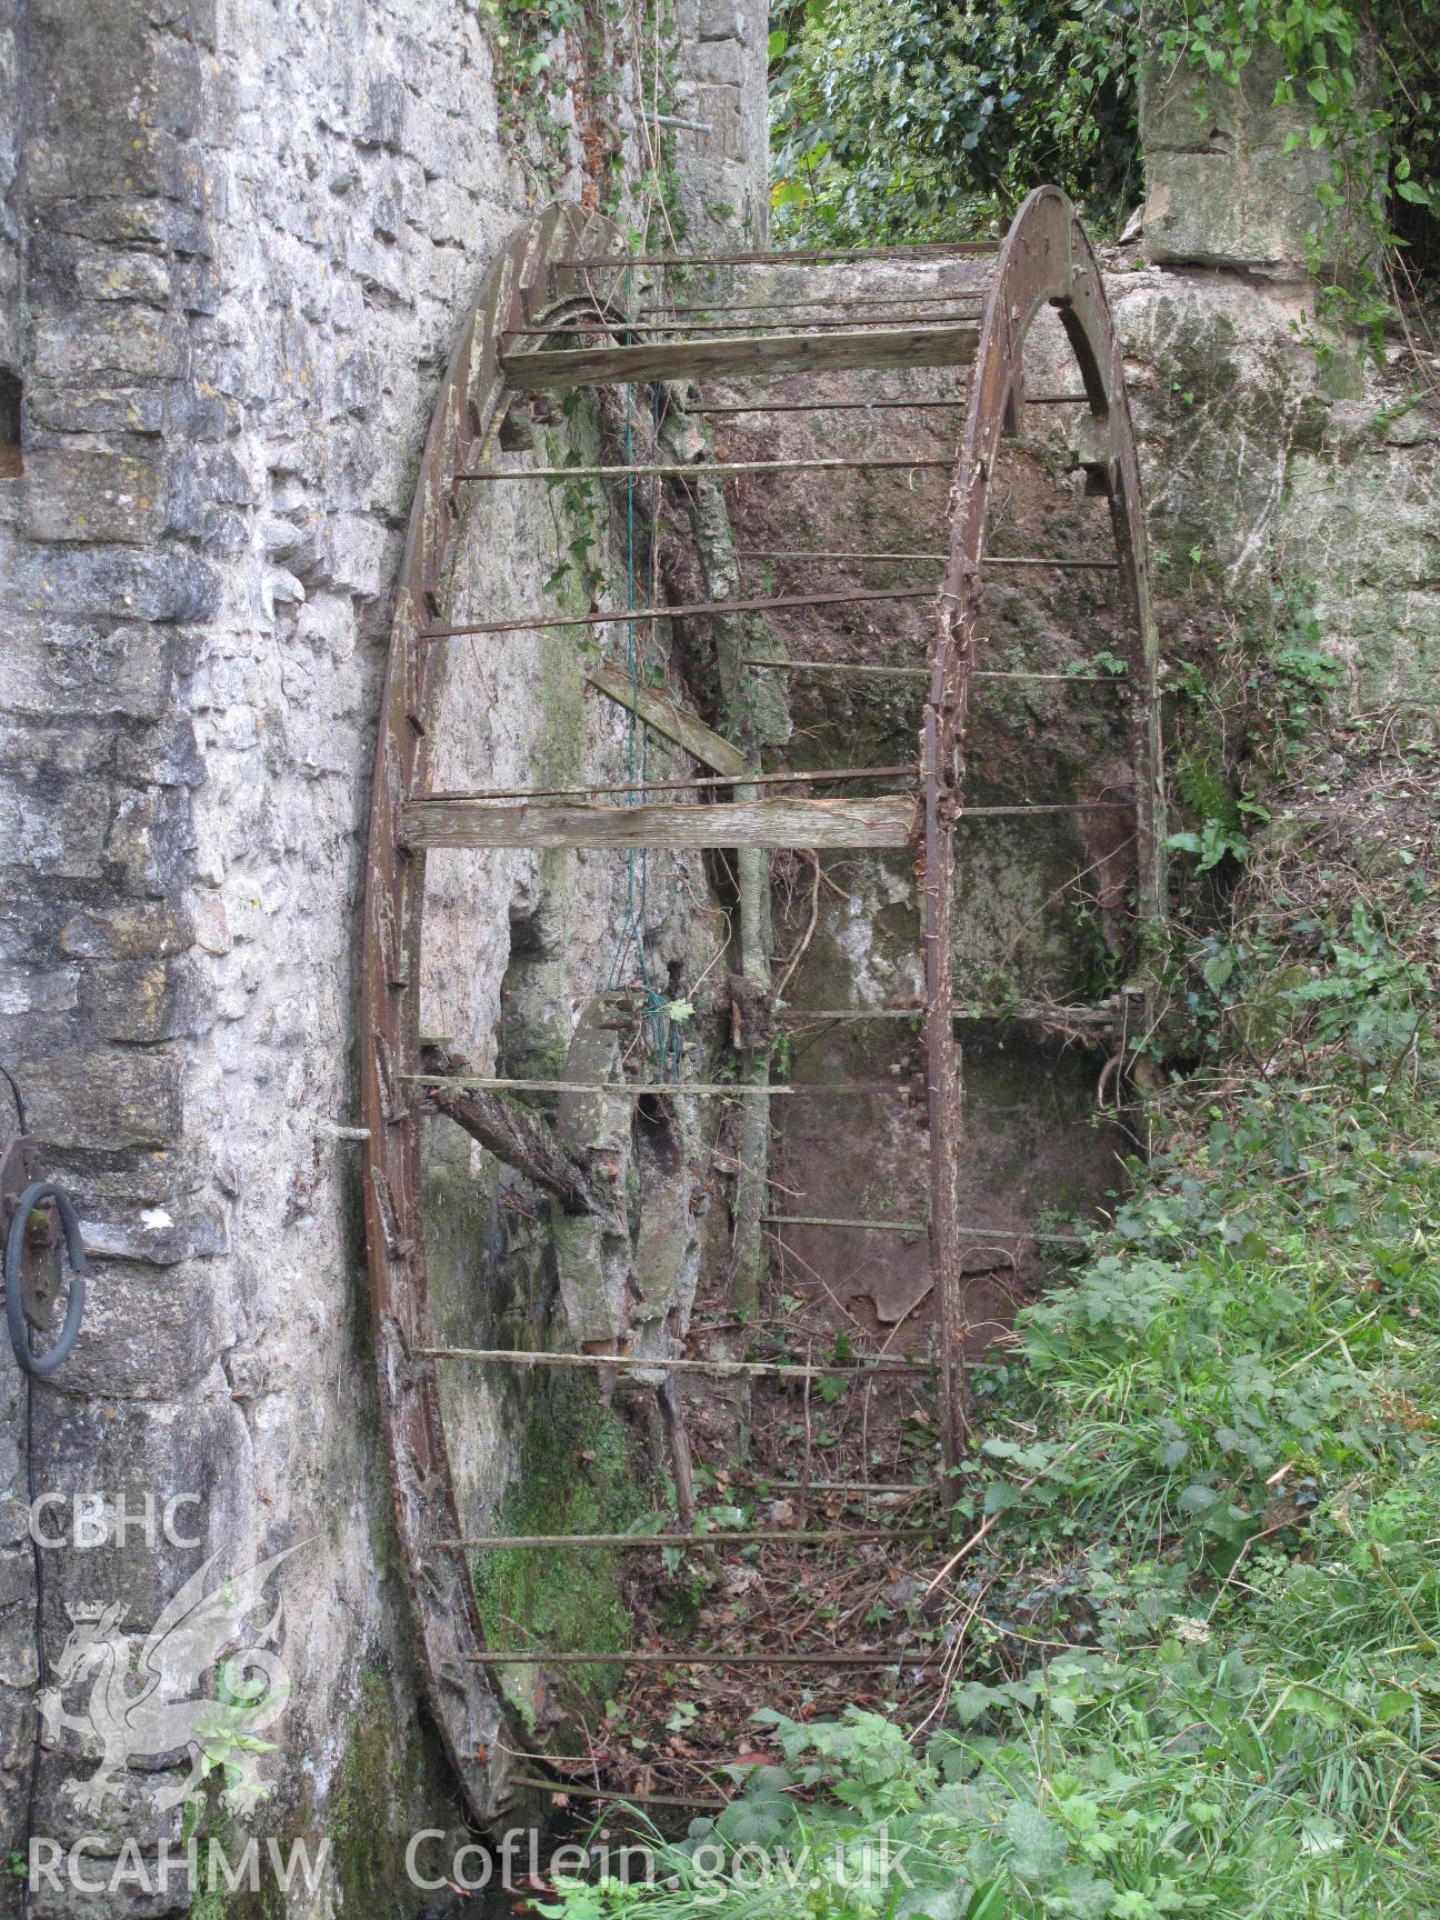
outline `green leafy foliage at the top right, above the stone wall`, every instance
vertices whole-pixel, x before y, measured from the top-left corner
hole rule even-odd
[[[1321,315],[1379,353],[1434,267],[1440,0],[781,0],[770,36],[772,205],[797,242],[948,240],[1054,180],[1104,230],[1140,198],[1142,60],[1277,104],[1329,157],[1315,186]],[[1196,115],[1208,113],[1204,88]]]

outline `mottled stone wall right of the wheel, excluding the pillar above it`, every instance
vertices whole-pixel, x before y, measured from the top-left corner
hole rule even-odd
[[[1263,628],[1279,593],[1317,616],[1342,707],[1432,730],[1440,407],[1417,397],[1398,342],[1380,369],[1321,367],[1308,284],[1158,269],[1148,252],[1112,255],[1108,292],[1171,651]]]

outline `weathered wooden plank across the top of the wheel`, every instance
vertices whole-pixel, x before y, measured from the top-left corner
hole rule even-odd
[[[655,340],[637,348],[549,348],[507,353],[511,386],[572,388],[611,380],[732,378],[856,367],[968,367],[975,326],[895,326],[856,334],[768,334],[720,340]]]

